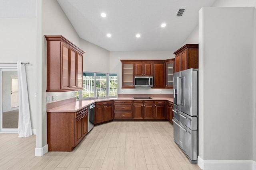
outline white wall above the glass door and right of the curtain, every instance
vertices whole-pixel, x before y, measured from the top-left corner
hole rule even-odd
[[[36,18],[0,18],[1,63],[26,65],[32,129],[36,129]]]

